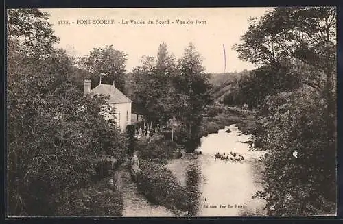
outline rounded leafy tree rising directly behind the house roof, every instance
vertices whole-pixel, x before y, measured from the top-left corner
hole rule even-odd
[[[94,48],[86,57],[80,60],[80,65],[94,73],[91,77],[92,83],[99,83],[102,75],[102,84],[115,86],[124,92],[125,90],[125,65],[126,55],[113,48],[113,45],[106,45],[105,48]]]

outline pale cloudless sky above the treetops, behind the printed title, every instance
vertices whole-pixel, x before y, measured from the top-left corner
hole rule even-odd
[[[126,70],[132,71],[141,65],[143,55],[156,57],[158,45],[162,42],[176,58],[181,58],[192,42],[202,55],[206,72],[223,73],[255,68],[253,64],[239,60],[237,52],[231,48],[240,42],[240,36],[248,29],[248,18],[261,17],[270,9],[78,8],[43,11],[51,15],[49,22],[60,38],[57,47],[70,54],[83,56],[93,48],[113,45],[126,53]],[[165,24],[158,24],[156,20],[159,23],[165,21]],[[68,21],[69,24],[59,24],[59,21]],[[144,24],[132,24],[133,21],[143,21]],[[153,24],[147,24],[148,21]],[[185,24],[178,24],[178,21]]]

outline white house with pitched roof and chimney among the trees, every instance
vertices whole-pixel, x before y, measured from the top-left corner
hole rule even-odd
[[[126,95],[123,94],[120,90],[115,88],[115,82],[113,85],[102,84],[100,83],[95,88],[91,88],[91,80],[84,80],[84,95],[91,93],[91,94],[103,94],[103,95],[110,95],[108,99],[108,104],[115,108],[116,116],[116,123],[121,130],[121,132],[126,131],[126,126],[131,124],[131,103],[130,100]]]

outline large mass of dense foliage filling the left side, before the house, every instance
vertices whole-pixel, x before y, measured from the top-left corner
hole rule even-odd
[[[82,97],[70,81],[73,60],[52,46],[48,15],[29,9],[9,16],[8,212],[54,215],[56,199],[91,182],[94,160],[121,160],[127,143],[100,114],[106,97]],[[35,39],[42,41],[31,45]]]

